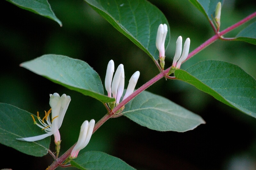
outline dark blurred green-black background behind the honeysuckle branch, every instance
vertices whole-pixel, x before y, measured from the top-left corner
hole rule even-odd
[[[147,54],[119,33],[83,0],[48,0],[63,27],[51,19],[0,1],[0,102],[12,104],[28,112],[48,110],[49,94],[58,92],[72,100],[60,128],[61,153],[78,138],[84,120],[100,120],[104,106],[96,99],[71,91],[19,66],[44,54],[60,54],[87,62],[104,82],[108,61],[124,64],[125,87],[131,75],[139,70],[140,87],[158,70]],[[171,41],[166,50],[166,66],[175,53],[176,40],[190,37],[190,51],[214,33],[207,19],[188,0],[151,0],[170,24]],[[4,10],[3,10],[4,9]],[[223,30],[255,12],[251,0],[225,0],[221,12]],[[225,37],[234,37],[242,28]],[[244,42],[217,41],[184,63],[181,68],[201,60],[227,61],[242,67],[256,77],[255,45]],[[194,130],[158,132],[119,117],[104,123],[83,151],[102,151],[121,158],[136,169],[256,169],[256,121],[193,86],[176,80],[160,80],[147,89],[164,96],[200,115],[206,124]],[[31,120],[32,121],[32,120]],[[54,143],[51,143],[51,147]],[[0,169],[46,169],[53,162],[47,154],[32,157],[0,144],[3,151]],[[61,154],[60,153],[60,154]],[[6,161],[6,160],[9,160]],[[58,168],[61,169],[61,168]],[[73,169],[73,168],[67,168]]]

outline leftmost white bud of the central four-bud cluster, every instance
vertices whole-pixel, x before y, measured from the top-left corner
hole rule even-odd
[[[114,61],[110,60],[108,62],[108,67],[107,67],[107,72],[105,77],[105,88],[108,92],[108,97],[111,97],[111,82],[112,82],[114,71],[115,71]]]

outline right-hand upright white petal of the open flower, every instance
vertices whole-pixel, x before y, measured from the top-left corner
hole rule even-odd
[[[64,116],[67,112],[67,109],[68,109],[68,105],[71,101],[71,97],[70,96],[67,96],[66,94],[63,94],[61,97],[60,97],[60,102],[61,102],[61,105],[60,105],[60,113],[59,113],[59,116],[58,116],[58,129],[60,128],[61,124],[62,124],[62,121],[64,119]]]

